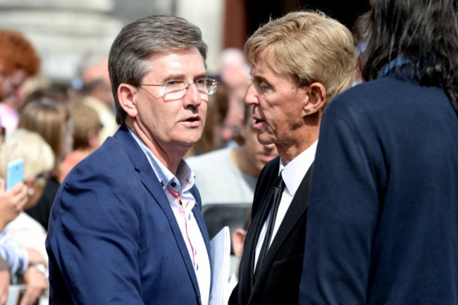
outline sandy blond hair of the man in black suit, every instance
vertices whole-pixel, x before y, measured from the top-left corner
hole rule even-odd
[[[266,60],[276,73],[297,78],[298,85],[319,82],[326,101],[352,86],[355,73],[352,33],[322,12],[292,12],[259,27],[245,43],[245,56],[266,49]]]

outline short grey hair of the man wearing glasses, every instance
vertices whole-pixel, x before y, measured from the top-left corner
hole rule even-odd
[[[116,37],[109,55],[111,89],[115,100],[116,122],[124,122],[126,113],[118,101],[121,83],[138,87],[151,67],[153,52],[186,49],[195,46],[206,60],[207,45],[199,27],[188,20],[166,15],[152,15],[125,25]]]

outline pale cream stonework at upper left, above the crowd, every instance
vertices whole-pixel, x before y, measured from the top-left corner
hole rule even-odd
[[[69,82],[88,51],[108,55],[123,23],[113,0],[1,0],[0,28],[22,32],[42,58],[42,75]]]

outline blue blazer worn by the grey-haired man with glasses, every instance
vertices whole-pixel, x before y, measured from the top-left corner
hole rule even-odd
[[[192,194],[210,255],[197,187]],[[124,125],[63,181],[46,247],[49,304],[201,304],[166,194]]]

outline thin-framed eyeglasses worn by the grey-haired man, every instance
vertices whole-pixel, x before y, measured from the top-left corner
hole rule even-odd
[[[210,95],[216,92],[218,82],[213,78],[199,78],[199,80],[194,81],[194,84],[199,94]],[[192,83],[186,84],[184,80],[169,80],[163,85],[140,84],[140,86],[163,87],[165,89],[163,97],[168,101],[184,97],[190,85]]]

